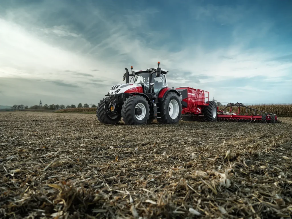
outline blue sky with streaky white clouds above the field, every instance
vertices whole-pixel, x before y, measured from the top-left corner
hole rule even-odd
[[[292,1],[1,1],[0,105],[97,103],[125,67],[222,103],[292,103]]]

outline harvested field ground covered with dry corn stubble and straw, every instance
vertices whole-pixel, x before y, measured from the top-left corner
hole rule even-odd
[[[103,125],[0,113],[0,218],[291,218],[282,123]]]

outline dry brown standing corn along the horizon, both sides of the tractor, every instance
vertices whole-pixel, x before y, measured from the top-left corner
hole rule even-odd
[[[265,111],[268,113],[273,113],[273,114],[276,114],[277,116],[292,116],[292,104],[248,105],[247,107],[251,107],[251,108]],[[220,110],[223,108],[224,106],[219,107]],[[60,109],[60,110],[57,110],[56,112],[95,113],[95,111],[96,111],[96,108],[92,107],[92,108]],[[230,107],[226,108],[224,111],[229,112]],[[237,113],[238,107],[232,107],[232,111]],[[246,113],[246,109],[244,107],[240,107],[240,114],[244,115],[245,113]],[[253,114],[253,110],[248,109],[248,114]]]

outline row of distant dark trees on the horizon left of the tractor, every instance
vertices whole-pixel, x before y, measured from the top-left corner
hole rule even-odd
[[[93,104],[91,107],[94,108],[94,107],[96,107],[96,105]],[[76,106],[74,104],[72,104],[71,106],[67,105],[66,107],[65,107],[64,104],[61,104],[61,105],[59,105],[59,104],[56,104],[56,105],[55,104],[51,104],[51,105],[45,104],[42,107],[40,107],[39,105],[34,105],[34,106],[28,107],[28,106],[25,106],[23,104],[21,104],[21,105],[16,105],[15,104],[10,109],[14,109],[14,110],[20,110],[20,109],[51,109],[51,110],[58,110],[58,109],[65,109],[65,108],[66,109],[68,109],[68,108],[76,108]],[[82,103],[79,103],[77,105],[77,108],[89,108],[89,105],[86,103],[86,104],[84,104],[82,106]]]

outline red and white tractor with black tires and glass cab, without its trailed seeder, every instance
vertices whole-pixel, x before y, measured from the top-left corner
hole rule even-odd
[[[106,98],[100,100],[96,116],[101,123],[116,124],[123,118],[127,125],[178,123],[182,114],[182,96],[168,88],[167,70],[157,68],[133,71],[127,68],[123,81],[110,88]],[[132,76],[129,82],[129,76]]]

